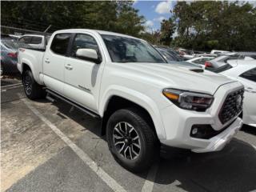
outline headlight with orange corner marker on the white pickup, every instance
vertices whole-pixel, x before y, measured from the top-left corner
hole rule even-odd
[[[185,110],[205,111],[214,101],[210,94],[200,94],[186,90],[165,89],[162,94],[176,106]]]

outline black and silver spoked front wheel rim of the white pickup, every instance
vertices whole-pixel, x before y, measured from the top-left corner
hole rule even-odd
[[[134,126],[128,122],[118,122],[113,130],[114,147],[123,158],[134,160],[141,153],[141,139]]]

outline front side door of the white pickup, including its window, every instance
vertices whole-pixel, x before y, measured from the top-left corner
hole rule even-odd
[[[96,38],[91,34],[75,34],[70,50],[70,57],[64,67],[66,98],[81,106],[97,112],[100,79],[102,77],[103,63],[96,64],[76,56],[78,49],[94,49],[101,56]]]

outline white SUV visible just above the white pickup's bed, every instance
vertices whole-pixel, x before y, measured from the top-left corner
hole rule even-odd
[[[18,42],[21,46],[26,46],[26,48],[32,48],[36,50],[46,49],[45,35],[42,34],[25,34],[21,38],[18,38]]]

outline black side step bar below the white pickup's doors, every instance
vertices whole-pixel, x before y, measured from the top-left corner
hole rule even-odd
[[[51,97],[51,96],[54,96],[55,98],[59,98],[62,101],[69,103],[71,106],[74,106],[74,107],[78,108],[78,110],[81,110],[82,112],[84,112],[86,114],[90,114],[90,116],[92,116],[93,118],[101,118],[98,114],[95,114],[93,111],[87,110],[85,107],[79,106],[78,104],[70,101],[69,99],[62,97],[62,95],[54,93],[54,91],[52,91],[52,90],[46,89],[46,92],[47,92],[46,98],[50,102],[55,101],[55,99]]]

